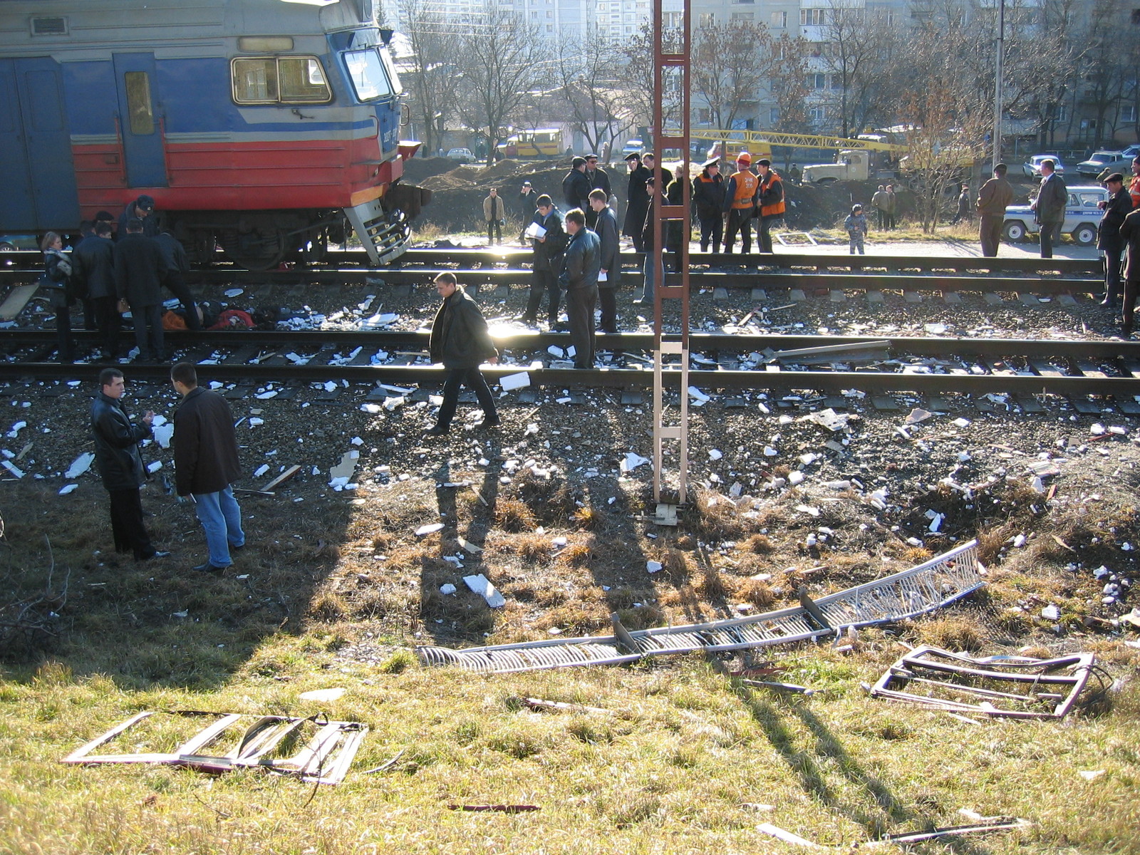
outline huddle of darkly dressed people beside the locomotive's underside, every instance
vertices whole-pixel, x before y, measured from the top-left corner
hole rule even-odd
[[[120,357],[119,334],[122,316],[131,314],[137,359],[165,361],[169,356],[163,337],[162,287],[182,306],[182,323],[189,329],[202,326],[198,308],[186,284],[189,262],[182,245],[169,231],[158,228],[154,199],[139,196],[129,202],[119,218],[106,211],[93,221],[80,223],[81,239],[68,253],[63,237],[55,231],[43,236],[43,276],[41,284],[51,292],[56,316],[56,357],[62,363],[75,358],[72,340],[72,308],[82,306],[83,326],[99,332],[99,356]]]

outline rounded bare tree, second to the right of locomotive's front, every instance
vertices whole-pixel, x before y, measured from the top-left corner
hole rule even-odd
[[[548,81],[548,50],[537,26],[494,0],[486,0],[477,23],[466,28],[457,55],[464,59],[458,111],[494,152],[528,92]]]

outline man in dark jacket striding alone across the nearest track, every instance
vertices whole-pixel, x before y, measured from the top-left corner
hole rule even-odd
[[[498,361],[498,351],[487,332],[483,314],[467,292],[459,287],[455,274],[440,274],[434,283],[435,293],[443,298],[443,304],[435,312],[427,347],[431,360],[442,363],[447,368],[447,381],[443,383],[443,402],[435,416],[435,425],[426,433],[429,437],[441,437],[450,430],[461,385],[472,390],[479,399],[479,406],[483,408],[483,421],[479,426],[498,427],[495,399],[479,370],[483,363],[495,365]]]

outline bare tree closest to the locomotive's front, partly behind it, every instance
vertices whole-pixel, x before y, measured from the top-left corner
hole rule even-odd
[[[401,78],[424,150],[434,154],[443,142],[443,129],[457,100],[459,74],[455,57],[461,56],[463,38],[458,24],[429,11],[424,0],[405,0],[404,11],[408,22],[404,34],[413,56],[410,70]]]

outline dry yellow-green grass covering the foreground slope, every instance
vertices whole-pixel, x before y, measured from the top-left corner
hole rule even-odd
[[[765,651],[783,668],[774,678],[819,690],[807,699],[749,690],[701,657],[472,675],[424,669],[409,651],[416,643],[556,637],[552,629],[562,636],[608,634],[611,611],[640,629],[718,617],[735,602],[757,611],[776,608],[793,595],[782,569],[812,565],[795,549],[803,529],[784,535],[789,523],[798,528],[803,521],[788,519],[783,503],[765,504],[764,522],[743,521],[742,534],[733,535],[735,549],[717,552],[698,542],[711,543],[710,531],[736,530],[732,503],[718,500],[698,528],[660,531],[651,540],[641,529],[620,529],[617,513],[591,513],[588,524],[585,515],[576,519],[588,507],[577,504],[581,496],[563,483],[536,482],[524,497],[495,499],[495,512],[505,506],[519,530],[492,528],[480,536],[486,551],[465,557],[461,570],[445,560],[458,551],[456,535],[474,539],[472,529],[486,530],[491,512],[457,502],[443,532],[416,539],[409,532],[439,519],[441,508],[432,504],[430,487],[422,495],[401,489],[406,502],[369,499],[357,515],[337,511],[312,519],[286,503],[255,506],[256,528],[271,534],[251,539],[239,570],[211,579],[113,556],[100,564],[83,544],[101,543],[103,516],[71,531],[52,511],[54,495],[11,514],[0,542],[10,565],[46,565],[43,535],[67,530],[70,545],[58,546],[56,562],[72,569],[82,608],[68,608],[66,634],[47,663],[10,667],[0,678],[0,852],[751,852],[756,841],[741,844],[741,831],[759,820],[742,801],[773,805],[765,821],[826,845],[955,824],[958,809],[968,807],[1035,823],[978,838],[971,850],[1140,852],[1140,804],[1132,797],[1140,787],[1140,750],[1131,736],[1140,715],[1135,681],[1125,681],[1107,711],[1082,711],[1066,726],[978,727],[870,700],[860,690],[860,682],[873,682],[897,658],[897,628],[861,633],[849,657],[826,644]],[[556,510],[539,512],[544,502]],[[997,507],[988,520],[994,531],[1019,513]],[[1060,645],[1036,618],[1041,605],[1056,601],[1075,620],[1083,613],[1078,605],[1094,597],[1090,585],[1064,569],[1069,552],[1049,535],[1058,532],[1083,556],[1118,556],[1119,540],[1140,537],[1130,513],[1110,519],[1083,527],[1058,520],[1056,528],[1040,527],[1020,551],[1003,549],[1008,535],[1000,542],[994,535],[1000,561],[990,565],[985,592],[911,622],[905,637],[969,652],[1056,652]],[[1033,521],[1029,512],[1013,524]],[[535,535],[537,524],[547,532]],[[178,532],[186,530],[197,545],[192,519],[156,514],[155,526],[163,543],[179,543]],[[760,535],[768,526],[771,532]],[[569,545],[555,552],[560,535]],[[887,548],[881,536],[850,542],[858,548],[845,552],[847,543],[840,543],[828,555],[828,569],[808,580],[813,591],[864,581],[919,557],[906,555],[903,544]],[[646,557],[660,560],[662,571],[646,573]],[[762,571],[773,578],[748,578]],[[459,577],[469,572],[486,572],[507,605],[490,610],[467,592]],[[443,595],[446,583],[459,589]],[[182,611],[186,618],[172,617]],[[1076,637],[1066,635],[1062,643]],[[994,638],[1005,646],[995,648]],[[1126,676],[1138,665],[1137,652],[1118,641],[1086,634],[1081,643],[1096,649],[1114,675]],[[374,644],[375,652],[344,658],[358,644]],[[348,691],[328,705],[299,698],[331,686]],[[538,712],[511,700],[520,697],[603,707],[613,715]],[[164,767],[55,763],[133,711],[166,708],[295,715],[325,709],[365,722],[370,732],[349,780],[319,788],[311,801],[311,787],[256,773],[210,779]],[[359,774],[401,750],[386,772]],[[1092,782],[1075,774],[1101,768],[1105,774]],[[442,807],[449,804],[542,809],[464,814]]]

